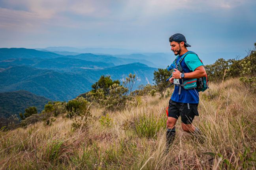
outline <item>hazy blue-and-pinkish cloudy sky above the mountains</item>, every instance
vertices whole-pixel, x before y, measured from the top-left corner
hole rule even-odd
[[[256,42],[256,0],[0,0],[0,48],[122,48],[244,54]]]

